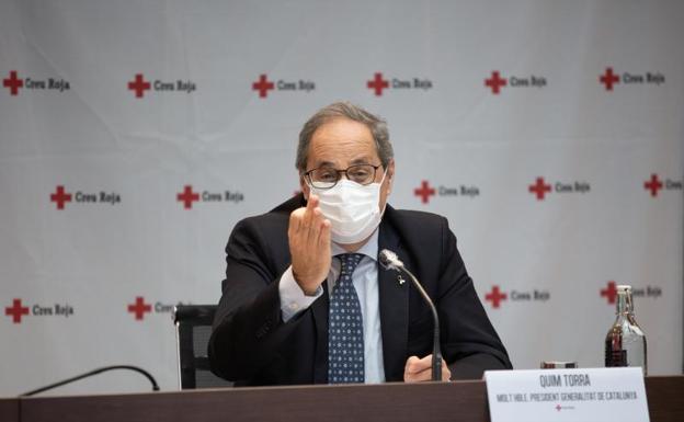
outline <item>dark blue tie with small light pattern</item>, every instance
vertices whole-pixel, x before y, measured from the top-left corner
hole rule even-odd
[[[352,274],[364,255],[344,253],[340,277],[330,295],[328,383],[364,381],[363,318]]]

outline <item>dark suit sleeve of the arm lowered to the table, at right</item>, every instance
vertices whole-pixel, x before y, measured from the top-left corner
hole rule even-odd
[[[442,354],[453,379],[480,378],[487,369],[512,368],[505,347],[477,296],[456,249],[456,237],[442,223],[438,312]]]

